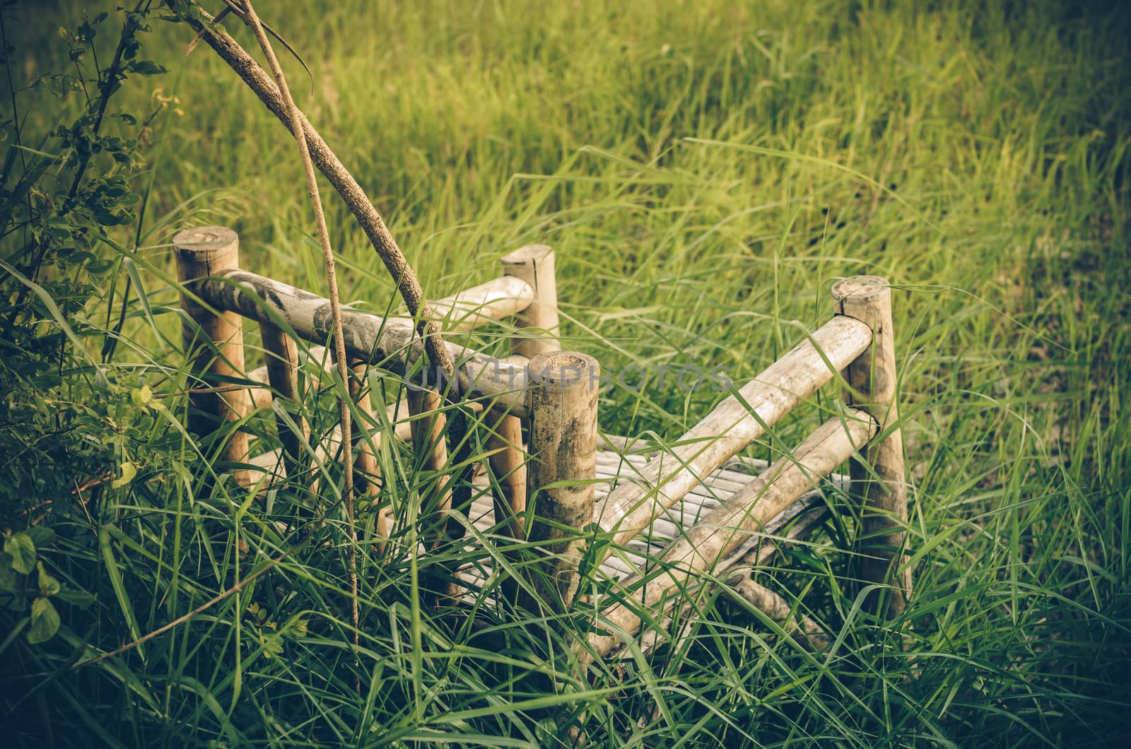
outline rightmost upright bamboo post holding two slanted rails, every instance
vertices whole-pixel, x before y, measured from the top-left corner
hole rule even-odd
[[[853,494],[864,501],[860,576],[864,583],[890,586],[887,602],[872,596],[871,605],[880,613],[896,617],[910,595],[912,574],[904,554],[907,484],[896,398],[891,289],[886,278],[855,276],[832,286],[832,300],[837,315],[855,318],[872,328],[872,344],[846,370],[851,390],[845,393],[845,399],[870,413],[887,437],[867,445],[864,463],[854,460],[851,474]]]

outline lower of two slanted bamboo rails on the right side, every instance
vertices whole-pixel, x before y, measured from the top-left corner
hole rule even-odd
[[[875,431],[875,421],[866,412],[856,410],[821,424],[792,456],[770,465],[668,544],[654,571],[621,580],[618,587],[639,604],[616,603],[605,609],[597,625],[611,634],[590,634],[582,657],[604,656],[624,638],[634,635],[641,621],[638,612],[656,606],[693,576],[708,570],[722,571],[717,567],[722,558],[847,460]]]

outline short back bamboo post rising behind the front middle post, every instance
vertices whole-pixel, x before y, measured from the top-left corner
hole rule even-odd
[[[558,342],[558,282],[554,251],[545,244],[527,244],[501,258],[502,272],[534,290],[532,303],[517,316],[519,336],[511,342],[516,354],[534,359],[561,348]]]

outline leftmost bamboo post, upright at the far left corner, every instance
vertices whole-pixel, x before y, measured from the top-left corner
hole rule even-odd
[[[240,267],[240,238],[224,226],[184,230],[173,238],[173,247],[178,278],[193,293],[201,279]],[[242,378],[243,330],[240,316],[235,312],[213,312],[183,292],[181,309],[196,324],[193,326],[185,320],[181,326],[192,373],[209,386],[222,386],[225,379]],[[215,432],[224,422],[240,421],[251,412],[251,398],[243,388],[190,393],[189,403],[192,406],[189,431],[201,436]],[[248,434],[234,431],[221,457],[231,463],[247,463]],[[244,468],[233,471],[232,475],[241,485],[251,482],[250,472]]]

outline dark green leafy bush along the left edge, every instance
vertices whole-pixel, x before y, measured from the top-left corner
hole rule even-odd
[[[144,206],[133,187],[146,166],[140,143],[165,106],[135,117],[111,105],[128,78],[163,72],[140,55],[148,5],[122,14],[104,64],[96,43],[111,29],[106,12],[60,28],[69,69],[41,74],[23,89],[12,84],[16,48],[10,11],[2,11],[11,110],[0,120],[0,637],[26,629],[29,645],[57,636],[60,603],[94,602],[50,571],[58,542],[76,540],[45,523],[92,523],[92,493],[128,487],[153,429],[149,388],[105,365],[124,317],[112,315],[115,279],[129,262],[122,229]],[[45,93],[77,114],[40,123],[29,144],[23,91]],[[103,326],[95,321],[100,304]]]

